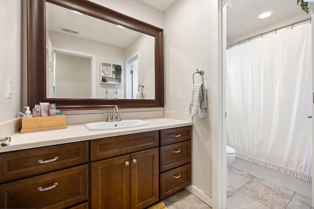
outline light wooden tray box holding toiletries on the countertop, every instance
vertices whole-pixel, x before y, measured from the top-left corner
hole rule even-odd
[[[21,134],[68,128],[65,115],[22,117]]]

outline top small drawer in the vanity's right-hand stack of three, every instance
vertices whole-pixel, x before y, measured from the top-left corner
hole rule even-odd
[[[191,139],[191,126],[160,131],[160,146]]]

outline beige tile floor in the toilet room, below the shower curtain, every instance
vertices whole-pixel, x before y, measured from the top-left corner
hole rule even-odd
[[[311,209],[312,197],[228,166],[227,209]]]

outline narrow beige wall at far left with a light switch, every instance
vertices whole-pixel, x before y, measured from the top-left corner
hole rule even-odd
[[[15,120],[22,111],[21,8],[21,0],[0,0],[0,125]],[[6,98],[6,79],[12,80],[12,98]],[[7,134],[7,129],[0,127],[0,137]]]

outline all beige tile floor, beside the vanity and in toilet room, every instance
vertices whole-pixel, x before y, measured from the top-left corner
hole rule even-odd
[[[228,166],[227,209],[311,209],[312,198]],[[163,200],[168,209],[211,209],[183,189]]]

